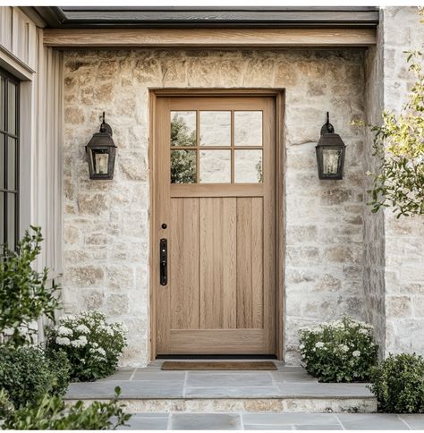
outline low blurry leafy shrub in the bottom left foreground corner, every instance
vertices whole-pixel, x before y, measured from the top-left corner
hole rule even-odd
[[[84,407],[77,402],[66,406],[61,397],[44,395],[38,403],[9,412],[3,429],[15,430],[106,430],[125,425],[131,418],[118,403],[120,389],[115,388],[114,401],[91,403]]]

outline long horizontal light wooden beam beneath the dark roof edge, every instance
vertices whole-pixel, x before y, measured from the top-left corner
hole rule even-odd
[[[375,29],[47,29],[48,47],[369,47]]]

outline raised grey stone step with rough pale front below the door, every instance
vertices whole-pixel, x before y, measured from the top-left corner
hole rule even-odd
[[[73,383],[66,399],[107,401],[114,388],[128,412],[376,412],[367,384],[324,384],[303,369],[278,371],[117,371]]]

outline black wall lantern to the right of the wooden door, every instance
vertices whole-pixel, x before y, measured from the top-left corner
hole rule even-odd
[[[319,179],[343,179],[344,149],[346,146],[330,123],[328,112],[326,123],[321,128],[321,137],[315,147],[317,151]]]

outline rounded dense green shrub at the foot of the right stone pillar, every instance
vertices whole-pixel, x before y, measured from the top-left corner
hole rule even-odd
[[[401,353],[372,369],[369,389],[384,412],[424,412],[424,358]]]

